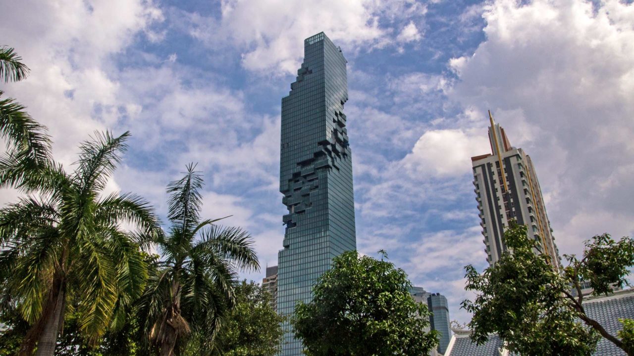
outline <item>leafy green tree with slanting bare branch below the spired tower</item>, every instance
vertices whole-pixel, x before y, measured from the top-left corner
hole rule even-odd
[[[607,234],[595,236],[586,241],[581,260],[566,255],[569,266],[560,274],[547,255],[534,253],[540,245],[527,238],[526,231],[526,226],[510,224],[504,234],[508,251],[482,274],[472,265],[465,267],[465,288],[477,294],[473,302],[462,303],[473,314],[472,340],[483,343],[497,333],[508,350],[521,355],[590,355],[603,336],[634,355],[623,340],[586,314],[580,287],[582,280],[590,281],[593,295],[601,295],[623,286],[627,267],[634,264],[634,241],[623,238],[617,243]]]

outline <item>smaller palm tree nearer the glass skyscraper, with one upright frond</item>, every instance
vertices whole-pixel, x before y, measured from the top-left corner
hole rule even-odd
[[[193,331],[210,349],[221,317],[235,302],[240,269],[259,263],[249,234],[200,220],[202,176],[187,166],[182,179],[167,186],[169,234],[157,241],[163,260],[141,297],[141,329],[161,356],[179,352]],[[223,218],[224,219],[224,218]]]

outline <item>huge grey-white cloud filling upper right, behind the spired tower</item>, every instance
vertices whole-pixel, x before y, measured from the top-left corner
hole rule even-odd
[[[483,16],[486,41],[450,61],[449,98],[492,108],[531,155],[562,253],[598,232],[632,234],[634,4],[498,0]]]

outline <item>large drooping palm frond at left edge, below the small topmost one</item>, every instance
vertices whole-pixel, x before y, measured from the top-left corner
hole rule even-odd
[[[2,96],[3,91],[0,91]],[[15,156],[22,156],[36,165],[51,158],[51,139],[46,126],[38,124],[14,99],[0,100],[0,136],[7,139],[7,148],[15,149]]]

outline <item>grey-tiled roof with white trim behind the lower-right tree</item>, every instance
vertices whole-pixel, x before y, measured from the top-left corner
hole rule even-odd
[[[590,296],[583,301],[583,308],[588,317],[601,324],[605,331],[611,335],[616,335],[623,328],[618,319],[634,319],[634,289],[616,291],[609,296]],[[476,345],[472,343],[469,330],[452,329],[449,346],[444,356],[507,356],[508,350],[504,348],[504,343],[499,336],[493,334],[489,336],[489,341]],[[613,343],[600,338],[597,343],[595,356],[625,355],[623,350]]]

